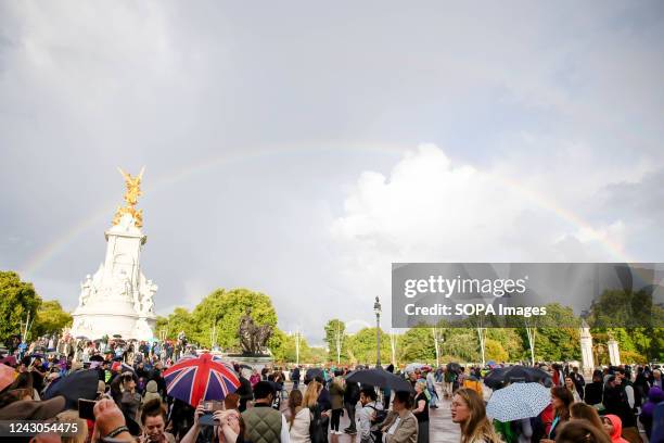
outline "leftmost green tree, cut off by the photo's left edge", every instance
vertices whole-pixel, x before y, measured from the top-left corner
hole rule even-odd
[[[16,273],[0,270],[0,340],[20,334],[21,322],[28,314],[34,319],[40,304],[33,283],[21,281]]]

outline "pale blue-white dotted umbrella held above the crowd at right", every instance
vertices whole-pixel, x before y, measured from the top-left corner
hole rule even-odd
[[[507,422],[537,417],[551,402],[550,391],[539,383],[512,383],[491,394],[486,414]]]

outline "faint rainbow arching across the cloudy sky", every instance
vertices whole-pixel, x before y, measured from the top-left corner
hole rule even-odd
[[[379,153],[381,155],[393,155],[395,160],[398,160],[405,152],[409,151],[409,149],[404,148],[403,145],[390,144],[384,142],[363,142],[361,144],[357,143],[340,143],[339,145],[325,145],[319,144],[316,148],[309,148],[305,145],[292,147],[292,145],[276,145],[272,148],[259,148],[259,149],[250,149],[246,151],[241,151],[238,153],[224,154],[220,156],[215,156],[202,162],[193,163],[188,165],[174,174],[169,174],[167,176],[157,178],[155,180],[149,180],[146,186],[143,189],[143,199],[150,198],[150,195],[161,192],[168,187],[176,185],[178,182],[186,181],[191,177],[206,174],[208,172],[215,170],[219,167],[232,165],[235,163],[242,162],[251,162],[258,159],[265,159],[270,156],[283,156],[283,155],[293,155],[293,154],[310,154],[310,153],[320,153],[320,152],[329,152],[329,153],[337,153],[337,152],[346,152],[346,151],[363,151],[363,152],[372,152]],[[480,170],[483,173],[482,170]],[[514,179],[506,178],[498,176],[494,173],[484,173],[488,174],[493,179],[502,186],[509,188],[512,191],[518,192],[523,198],[527,199],[529,202],[535,204],[538,207],[541,207],[557,217],[567,221],[569,224],[584,229],[586,232],[589,232],[593,238],[598,240],[600,244],[604,246],[604,249],[609,252],[610,257],[614,261],[630,263],[630,261],[622,246],[611,239],[606,238],[601,232],[598,232],[590,223],[583,219],[583,217],[573,213],[572,211],[562,207],[551,199],[546,195],[535,192],[532,189],[528,189]],[[72,226],[67,231],[60,233],[55,237],[55,240],[48,243],[40,250],[38,250],[26,263],[22,266],[21,274],[25,275],[26,278],[36,275],[46,264],[48,264],[53,257],[59,255],[62,251],[66,250],[66,248],[80,235],[82,235],[86,230],[103,223],[102,220],[110,221],[116,207],[119,204],[119,200],[115,200],[114,202],[106,202],[101,205],[99,208],[93,211],[89,217],[81,219]]]

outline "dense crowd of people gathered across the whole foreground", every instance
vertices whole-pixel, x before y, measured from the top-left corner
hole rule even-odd
[[[40,353],[41,343],[0,355],[0,420],[79,425],[76,435],[40,434],[35,441],[327,443],[347,434],[357,443],[426,443],[430,414],[447,398],[462,443],[624,443],[642,441],[639,423],[652,436],[653,410],[664,401],[656,368],[608,367],[586,382],[575,367],[542,365],[548,377],[539,382],[550,388],[550,404],[536,417],[499,422],[486,413],[491,392],[483,381],[489,367],[409,365],[395,370],[390,365],[385,370],[410,387],[395,391],[347,381],[356,367],[235,364],[234,392],[190,405],[169,396],[164,379],[177,357],[192,352],[186,338],[152,344],[122,339],[86,341],[82,347],[74,343],[58,357]],[[67,398],[49,395],[80,371],[95,374],[89,417]]]

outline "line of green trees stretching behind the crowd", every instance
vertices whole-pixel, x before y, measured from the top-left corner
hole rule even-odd
[[[618,342],[625,363],[661,362],[664,359],[664,328],[610,327],[608,319],[625,315],[613,312],[616,300],[625,296],[624,293],[605,293],[593,305],[590,316],[599,319],[596,321],[599,326],[590,330],[596,362],[609,363],[606,342],[611,338]],[[639,294],[631,298],[643,303]],[[203,347],[237,352],[240,319],[247,308],[257,325],[272,327],[267,346],[278,362],[375,364],[376,328],[349,333],[342,319],[333,318],[324,325],[325,347],[311,346],[299,333],[279,329],[277,312],[267,294],[243,288],[217,289],[191,311],[176,307],[168,316],[157,317],[155,336],[175,340],[183,331],[191,342]],[[662,315],[661,307],[653,309],[652,315]],[[514,322],[503,328],[486,328],[482,319],[471,317],[454,328],[439,322],[435,327],[381,330],[381,360],[397,364],[579,360],[580,319],[571,308],[559,304],[547,305],[547,312],[550,315],[540,324]],[[21,333],[28,317],[33,319],[29,329],[33,339],[58,333],[72,324],[71,314],[64,312],[58,301],[43,301],[33,284],[22,281],[16,273],[0,271],[0,342]],[[656,321],[655,325],[661,324]],[[577,326],[561,328],[559,325]]]

